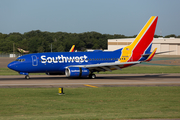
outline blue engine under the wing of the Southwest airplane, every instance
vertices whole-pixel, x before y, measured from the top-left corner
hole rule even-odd
[[[89,75],[89,69],[81,67],[68,67],[65,74],[67,77],[86,77]]]

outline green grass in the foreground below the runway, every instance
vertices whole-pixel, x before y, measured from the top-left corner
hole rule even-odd
[[[180,118],[180,87],[0,88],[0,119]]]

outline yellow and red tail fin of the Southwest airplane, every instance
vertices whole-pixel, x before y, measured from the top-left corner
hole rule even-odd
[[[154,37],[158,16],[152,16],[135,40],[122,49],[120,62],[138,61],[141,56],[149,51]]]

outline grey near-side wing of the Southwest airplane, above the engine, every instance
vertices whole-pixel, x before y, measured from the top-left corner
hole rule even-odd
[[[68,67],[83,67],[88,68],[90,71],[112,71],[112,70],[121,70],[121,67],[131,66],[140,63],[141,61],[135,62],[112,62],[112,63],[98,63],[98,64],[89,64],[89,65],[71,65]]]

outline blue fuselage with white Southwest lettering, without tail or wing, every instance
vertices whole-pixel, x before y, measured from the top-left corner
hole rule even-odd
[[[28,54],[17,58],[8,67],[17,72],[64,72],[67,66],[90,65],[118,61],[121,50],[113,52],[49,52]]]

